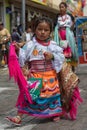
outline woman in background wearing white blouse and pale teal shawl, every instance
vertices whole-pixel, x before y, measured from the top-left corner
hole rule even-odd
[[[67,13],[67,4],[65,2],[61,2],[59,4],[59,9],[60,13],[57,17],[54,41],[56,41],[59,46],[61,46],[61,40],[65,40],[67,42],[67,46],[63,45],[63,52],[66,57],[67,63],[72,66],[72,69],[74,71],[74,67],[78,64],[78,50],[73,33],[74,18]]]

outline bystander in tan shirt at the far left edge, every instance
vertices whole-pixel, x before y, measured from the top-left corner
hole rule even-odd
[[[0,22],[0,64],[5,66],[8,63],[8,50],[11,35],[9,31],[4,28],[3,22]]]

